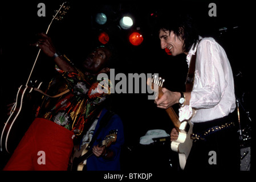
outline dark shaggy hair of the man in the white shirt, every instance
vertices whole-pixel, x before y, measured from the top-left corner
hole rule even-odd
[[[184,40],[182,51],[189,52],[193,44],[196,46],[199,35],[192,16],[189,14],[160,14],[157,22],[158,31],[173,31],[174,34]]]

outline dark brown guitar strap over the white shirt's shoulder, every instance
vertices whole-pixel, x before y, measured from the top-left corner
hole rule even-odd
[[[197,46],[199,45],[201,40],[199,40]],[[194,71],[196,69],[196,57],[197,57],[197,51],[194,53],[194,55],[192,55],[190,60],[189,71],[188,71],[188,75],[186,76],[186,92],[192,92],[192,89],[193,89]]]

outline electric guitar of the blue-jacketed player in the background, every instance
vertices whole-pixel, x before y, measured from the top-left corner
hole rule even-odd
[[[117,130],[111,130],[109,135],[107,135],[101,142],[101,147],[105,146],[108,148],[113,142],[116,142]],[[92,150],[87,150],[88,144],[84,144],[80,150],[75,150],[72,156],[72,167],[71,171],[83,171],[84,166],[86,166],[87,159],[93,154]]]

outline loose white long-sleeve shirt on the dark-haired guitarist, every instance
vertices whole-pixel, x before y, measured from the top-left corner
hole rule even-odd
[[[225,117],[235,109],[233,73],[224,49],[213,38],[204,38],[197,48],[190,49],[186,56],[188,65],[196,49],[190,105],[179,110],[180,121],[184,121],[192,115],[192,108],[196,109],[191,120],[194,123]]]

